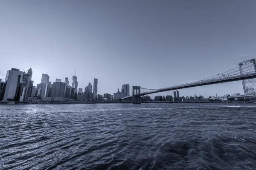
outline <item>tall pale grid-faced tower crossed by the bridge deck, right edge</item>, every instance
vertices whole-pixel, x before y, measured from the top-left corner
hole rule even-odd
[[[256,59],[248,59],[238,63],[240,74],[256,72]],[[256,79],[242,80],[245,95],[256,94]]]

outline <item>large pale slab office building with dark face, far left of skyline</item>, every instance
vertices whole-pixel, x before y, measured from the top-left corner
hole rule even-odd
[[[6,88],[3,96],[3,101],[18,101],[18,89],[20,83],[23,82],[24,72],[20,71],[17,68],[12,68],[6,73]]]

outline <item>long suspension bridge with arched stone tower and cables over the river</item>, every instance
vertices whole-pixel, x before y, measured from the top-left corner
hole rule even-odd
[[[140,96],[144,96],[148,94],[154,94],[154,93],[159,93],[164,91],[173,91],[173,90],[184,89],[184,88],[192,88],[192,87],[198,87],[203,85],[219,84],[224,82],[234,82],[234,81],[240,81],[240,80],[244,81],[246,79],[254,79],[254,78],[256,78],[256,65],[255,64],[243,65],[243,66],[234,68],[232,70],[226,71],[224,73],[209,77],[207,79],[202,79],[196,82],[189,82],[189,83],[184,83],[180,85],[169,86],[166,88],[150,89],[150,88],[143,88],[140,86],[132,86],[132,88],[130,89],[131,93],[123,97],[122,100],[132,98],[132,102],[134,104],[140,104]],[[141,89],[147,90],[147,91],[141,92],[140,91]],[[255,92],[254,88],[253,90]],[[253,94],[247,94],[247,96],[253,96]]]

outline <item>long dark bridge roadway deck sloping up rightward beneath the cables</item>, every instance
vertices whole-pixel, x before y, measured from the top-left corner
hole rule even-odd
[[[250,73],[245,73],[245,74],[236,74],[233,76],[205,79],[205,80],[200,80],[197,82],[185,83],[182,85],[175,85],[175,86],[171,86],[168,88],[160,88],[160,89],[153,90],[153,91],[143,92],[143,93],[137,94],[135,96],[144,96],[144,95],[159,93],[159,92],[163,92],[163,91],[172,91],[172,90],[178,90],[178,89],[183,89],[183,88],[192,88],[192,87],[203,86],[203,85],[212,85],[212,84],[219,84],[219,83],[224,83],[224,82],[234,82],[234,81],[239,81],[239,80],[244,80],[244,79],[254,79],[254,78],[256,78],[256,72],[250,72]],[[132,96],[127,96],[127,97],[123,97],[122,99],[128,99],[131,97]]]

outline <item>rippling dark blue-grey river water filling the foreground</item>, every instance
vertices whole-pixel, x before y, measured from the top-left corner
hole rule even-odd
[[[0,105],[0,169],[255,170],[256,105]]]

